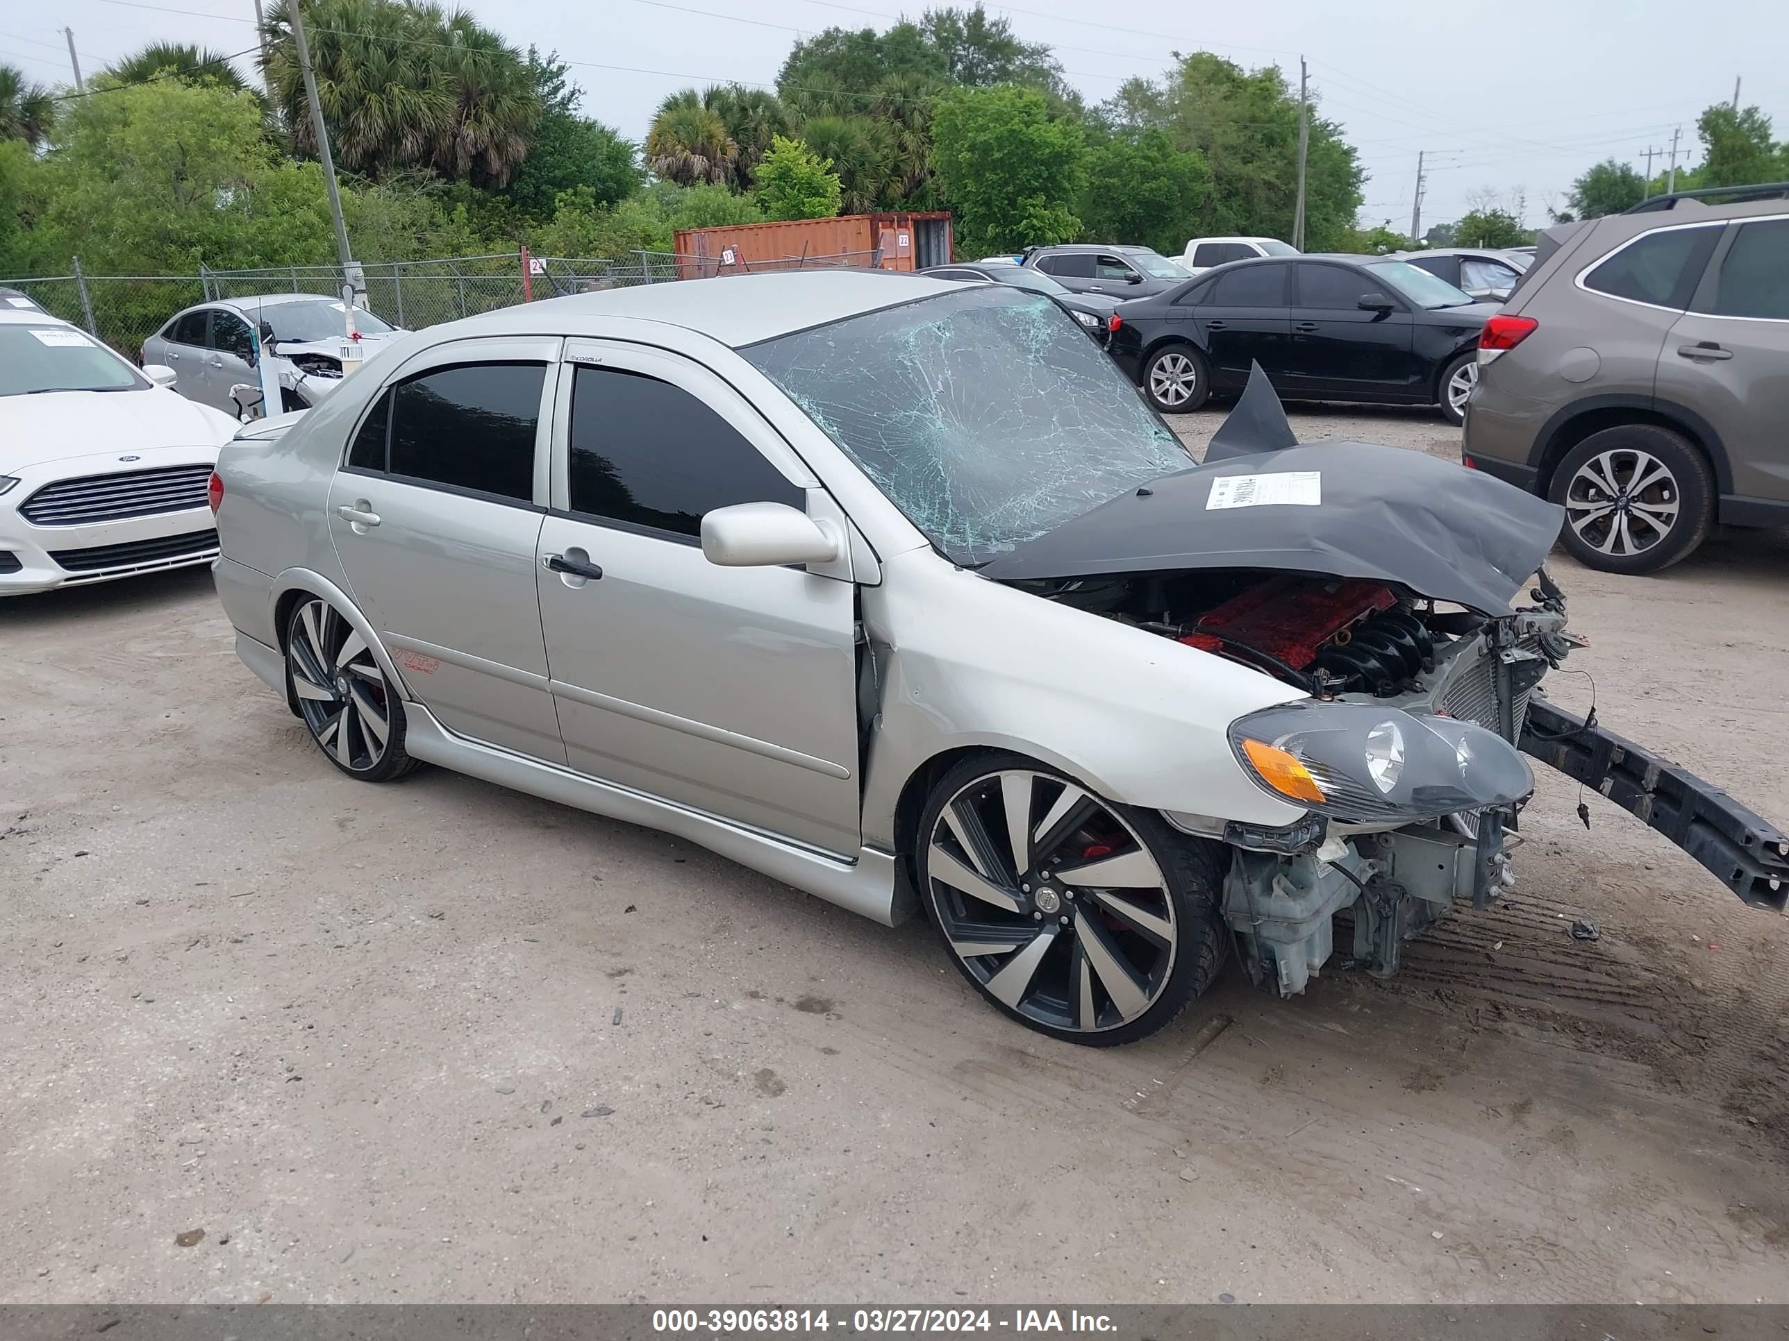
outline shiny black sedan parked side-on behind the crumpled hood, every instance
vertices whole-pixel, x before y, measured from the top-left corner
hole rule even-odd
[[[1288,401],[1438,404],[1460,424],[1494,311],[1406,261],[1265,257],[1118,304],[1109,349],[1166,413],[1242,392],[1259,363]]]

